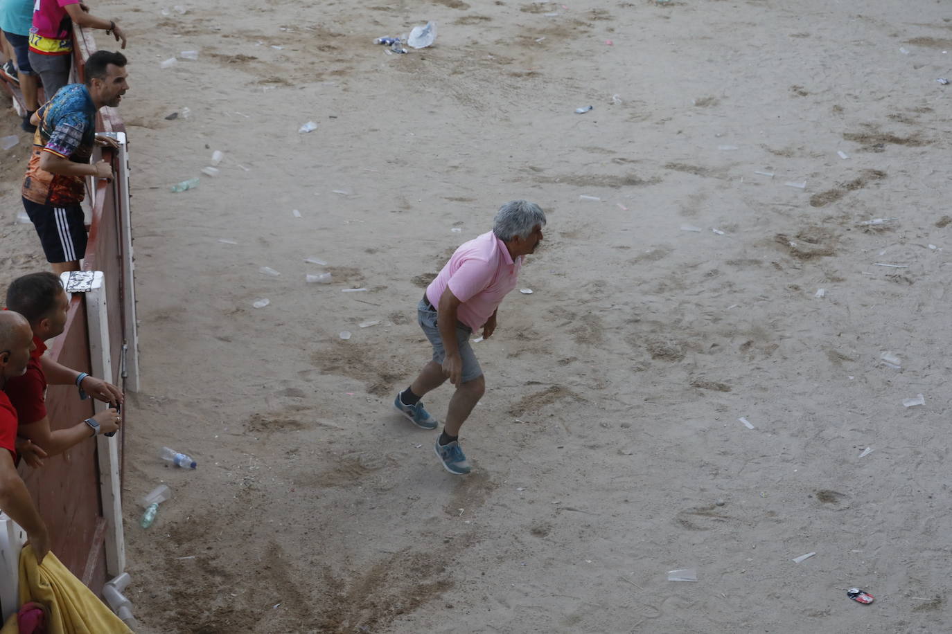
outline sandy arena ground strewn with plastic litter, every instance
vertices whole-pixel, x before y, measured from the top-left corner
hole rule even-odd
[[[93,3],[129,32],[141,631],[952,629],[948,3],[377,2]],[[27,143],[4,284],[45,266]],[[454,477],[391,402],[422,288],[514,198],[548,214],[535,293],[476,344]]]

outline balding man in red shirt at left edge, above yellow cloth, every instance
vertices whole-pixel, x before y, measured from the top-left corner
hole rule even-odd
[[[36,510],[27,485],[16,472],[16,410],[3,389],[10,378],[27,372],[30,353],[33,352],[33,333],[30,323],[12,311],[0,312],[0,509],[27,531],[30,544],[36,552],[36,561],[50,552],[50,534],[43,518]]]

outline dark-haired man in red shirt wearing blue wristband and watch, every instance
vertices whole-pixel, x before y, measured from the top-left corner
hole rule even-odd
[[[27,318],[33,333],[35,349],[30,354],[27,371],[11,378],[5,391],[20,421],[19,435],[29,438],[46,455],[68,450],[97,433],[119,429],[119,414],[110,408],[92,418],[65,429],[50,430],[47,416],[47,385],[76,385],[80,394],[89,394],[107,403],[122,403],[122,390],[85,372],[71,370],[43,353],[45,340],[59,336],[66,328],[69,298],[59,279],[52,273],[31,273],[14,279],[7,289],[7,308]],[[42,462],[30,461],[32,465]]]

